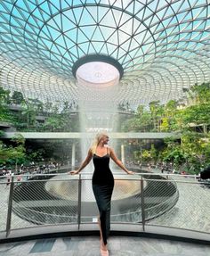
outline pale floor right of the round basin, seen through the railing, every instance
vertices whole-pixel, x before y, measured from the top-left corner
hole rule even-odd
[[[179,198],[170,211],[148,222],[149,225],[179,227],[210,232],[210,186],[193,177],[174,177]]]

